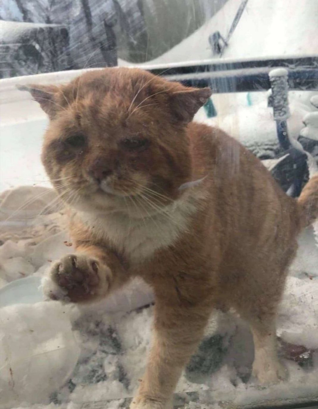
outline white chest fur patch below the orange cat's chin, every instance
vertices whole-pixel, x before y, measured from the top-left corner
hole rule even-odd
[[[94,227],[94,234],[107,238],[132,261],[140,261],[175,243],[196,210],[197,200],[187,196],[146,218],[130,218],[125,213],[94,215],[83,212],[79,216]]]

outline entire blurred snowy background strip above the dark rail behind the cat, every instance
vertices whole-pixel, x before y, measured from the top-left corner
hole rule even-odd
[[[318,53],[316,0],[4,0],[0,77]]]

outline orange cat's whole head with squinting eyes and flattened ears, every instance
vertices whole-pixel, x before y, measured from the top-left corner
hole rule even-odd
[[[24,89],[50,117],[42,162],[69,205],[142,217],[179,198],[191,180],[186,126],[209,89],[128,68]]]

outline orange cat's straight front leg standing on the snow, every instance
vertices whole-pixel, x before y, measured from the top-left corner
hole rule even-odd
[[[209,303],[168,305],[156,298],[152,349],[130,409],[172,409],[182,371],[203,337]]]

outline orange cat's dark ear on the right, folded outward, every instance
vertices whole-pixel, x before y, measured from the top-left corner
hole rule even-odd
[[[185,88],[170,94],[170,107],[177,119],[182,122],[192,121],[194,115],[211,97],[210,88]]]

